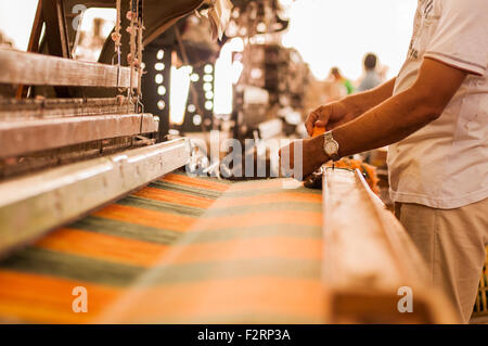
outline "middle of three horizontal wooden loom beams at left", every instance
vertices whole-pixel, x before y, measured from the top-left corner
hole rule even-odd
[[[0,157],[106,138],[157,132],[158,121],[158,118],[151,114],[0,121]]]

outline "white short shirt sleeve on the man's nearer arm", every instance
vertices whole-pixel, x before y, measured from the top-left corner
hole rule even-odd
[[[484,76],[488,65],[488,0],[442,0],[425,57]]]

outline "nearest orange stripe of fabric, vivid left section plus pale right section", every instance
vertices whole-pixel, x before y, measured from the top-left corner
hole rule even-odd
[[[207,322],[240,313],[243,322],[259,313],[321,321],[324,311],[319,280],[253,277],[140,287],[128,296],[87,282],[8,271],[0,271],[0,317],[41,323]],[[87,313],[72,310],[76,286],[88,291]],[[121,310],[95,320],[121,297]]]

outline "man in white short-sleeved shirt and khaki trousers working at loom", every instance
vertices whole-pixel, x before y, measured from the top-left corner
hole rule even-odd
[[[420,0],[398,77],[312,112],[308,132],[332,131],[301,143],[304,176],[331,158],[393,144],[397,216],[464,322],[488,243],[487,65],[488,1]]]

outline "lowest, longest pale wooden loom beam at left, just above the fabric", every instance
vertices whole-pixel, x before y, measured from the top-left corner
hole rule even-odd
[[[188,139],[63,166],[0,184],[0,253],[184,166]]]

